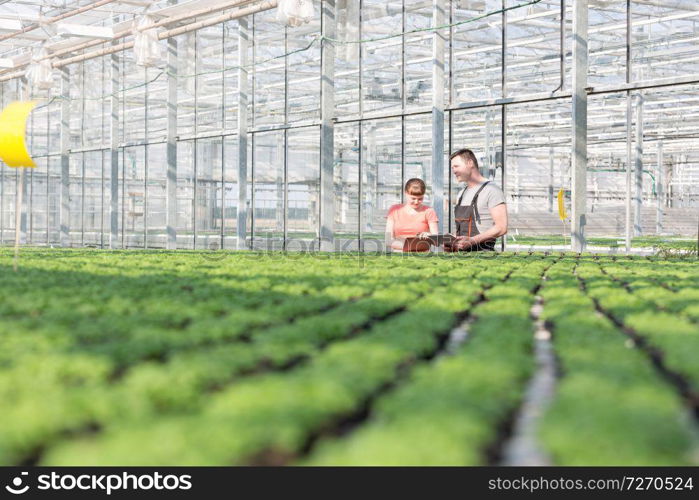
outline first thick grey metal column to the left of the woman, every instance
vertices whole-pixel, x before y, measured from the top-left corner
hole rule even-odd
[[[335,0],[322,3],[323,41],[320,56],[320,250],[331,252],[335,246],[335,197],[333,193],[335,113],[335,46],[337,38]]]

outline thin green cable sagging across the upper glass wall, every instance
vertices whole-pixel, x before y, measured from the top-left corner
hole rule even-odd
[[[261,66],[263,64],[267,64],[269,62],[276,61],[278,59],[285,59],[289,56],[292,56],[294,54],[299,54],[301,52],[306,52],[306,51],[310,50],[313,47],[313,45],[315,45],[318,42],[320,42],[321,44],[323,42],[330,42],[330,43],[333,43],[336,45],[366,44],[366,43],[390,40],[392,38],[400,38],[400,37],[403,37],[405,35],[412,35],[415,33],[429,33],[429,32],[445,30],[445,29],[449,29],[449,28],[453,28],[453,27],[457,27],[457,26],[463,26],[463,25],[469,24],[469,23],[474,23],[476,21],[480,21],[481,19],[485,19],[485,18],[494,16],[496,14],[502,14],[503,12],[508,12],[508,11],[515,10],[515,9],[521,9],[523,7],[528,7],[530,5],[535,5],[537,3],[540,3],[541,1],[542,0],[529,0],[528,2],[511,5],[510,7],[505,7],[502,9],[497,9],[497,10],[485,12],[479,16],[475,16],[475,17],[472,17],[472,18],[469,18],[469,19],[466,19],[463,21],[456,22],[456,23],[444,24],[442,26],[434,26],[434,27],[428,27],[428,28],[416,28],[416,29],[413,29],[410,31],[403,31],[400,33],[394,33],[391,35],[385,35],[385,36],[380,36],[380,37],[376,37],[376,38],[365,38],[365,39],[361,39],[361,40],[338,40],[336,38],[330,38],[330,37],[326,37],[326,36],[322,36],[322,35],[316,35],[310,40],[310,42],[306,46],[301,47],[300,49],[292,50],[290,52],[286,52],[286,53],[280,54],[278,56],[269,57],[267,59],[263,59],[262,61],[253,62],[253,63],[245,65],[245,66],[239,66],[239,65],[227,66],[227,67],[224,67],[221,69],[214,69],[214,70],[210,70],[210,71],[201,71],[199,73],[193,73],[193,74],[189,74],[189,75],[176,75],[176,74],[170,73],[166,69],[163,69],[148,81],[141,82],[141,83],[138,83],[136,85],[132,85],[131,87],[125,87],[123,89],[119,89],[115,92],[112,92],[111,94],[104,94],[104,95],[99,96],[99,97],[80,97],[80,98],[71,98],[70,96],[56,95],[56,96],[51,97],[51,99],[49,99],[46,103],[38,105],[34,109],[38,110],[41,108],[45,108],[47,106],[50,106],[52,103],[54,103],[57,100],[100,101],[100,100],[108,99],[110,97],[116,97],[119,93],[129,92],[131,90],[135,90],[135,89],[138,89],[141,87],[147,87],[148,85],[155,82],[163,75],[175,76],[176,78],[186,79],[186,78],[196,78],[198,76],[210,75],[210,74],[215,74],[215,73],[226,73],[229,71],[235,71],[235,70],[239,70],[239,69],[245,69],[245,70],[249,71],[249,70],[252,70],[253,68],[255,68],[256,66]]]

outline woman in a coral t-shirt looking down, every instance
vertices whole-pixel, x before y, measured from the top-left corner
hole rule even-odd
[[[405,238],[426,238],[438,232],[437,212],[422,204],[426,189],[422,179],[410,179],[405,183],[405,203],[393,205],[388,210],[386,244],[392,250],[402,251]],[[422,251],[428,250],[429,245],[425,243]]]

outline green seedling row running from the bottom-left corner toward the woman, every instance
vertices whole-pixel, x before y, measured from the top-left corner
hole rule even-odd
[[[396,280],[385,274],[384,284],[387,279]],[[404,277],[403,281],[413,280]],[[181,351],[166,363],[136,365],[116,384],[110,383],[113,362],[94,353],[24,356],[21,363],[0,371],[0,394],[10,405],[0,429],[0,463],[31,460],[67,431],[94,429],[168,411],[192,411],[208,391],[236,376],[261,366],[280,368],[308,356],[323,343],[347,336],[362,324],[400,309],[419,293],[414,283],[412,288],[406,285],[377,290],[380,284],[375,279],[370,289],[362,289],[368,293],[373,290],[365,299],[345,302],[293,324],[254,330],[248,342]],[[336,300],[346,300],[356,293],[356,287],[336,285],[334,289]],[[52,415],[50,420],[47,414]]]

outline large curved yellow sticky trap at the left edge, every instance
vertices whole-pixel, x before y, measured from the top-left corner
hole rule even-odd
[[[27,118],[34,106],[36,101],[15,101],[0,113],[0,159],[8,167],[36,167],[24,142]]]

